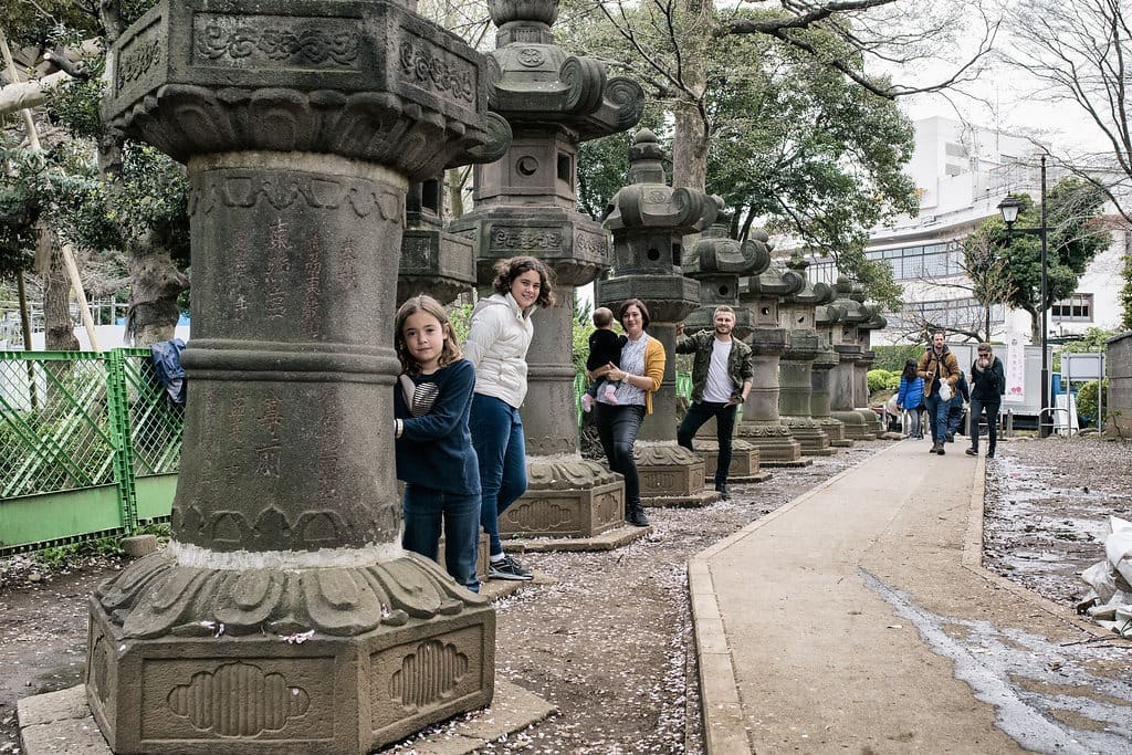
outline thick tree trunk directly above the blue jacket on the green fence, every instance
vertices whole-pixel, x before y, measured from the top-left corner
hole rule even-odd
[[[149,241],[130,254],[130,311],[126,332],[136,346],[173,337],[181,310],[177,298],[189,288],[169,252]]]

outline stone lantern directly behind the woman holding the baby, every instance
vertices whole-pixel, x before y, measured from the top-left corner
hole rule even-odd
[[[715,220],[712,197],[664,183],[657,136],[641,129],[629,147],[629,185],[609,200],[604,225],[614,234],[612,276],[598,281],[597,301],[616,314],[626,299],[649,308],[649,335],[664,346],[664,377],[653,394],[634,448],[645,506],[711,503],[704,462],[676,444],[676,324],[700,303],[698,285],[684,277],[681,240]]]

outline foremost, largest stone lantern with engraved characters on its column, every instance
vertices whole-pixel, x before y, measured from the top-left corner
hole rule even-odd
[[[397,2],[164,1],[106,122],[187,164],[194,340],[166,549],[91,599],[115,753],[345,754],[482,707],[495,614],[400,544],[405,191],[498,148],[491,74]]]

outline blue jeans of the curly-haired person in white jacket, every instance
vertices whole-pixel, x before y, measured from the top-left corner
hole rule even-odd
[[[468,418],[480,460],[480,523],[491,540],[490,555],[503,552],[499,516],[526,492],[526,440],[518,410],[494,396],[472,394]]]

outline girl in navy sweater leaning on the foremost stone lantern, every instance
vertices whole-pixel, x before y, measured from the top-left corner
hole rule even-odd
[[[461,359],[436,299],[412,297],[397,310],[394,346],[404,370],[393,386],[397,479],[405,482],[405,550],[436,560],[444,526],[445,567],[480,591],[480,465],[468,418],[475,368]]]

